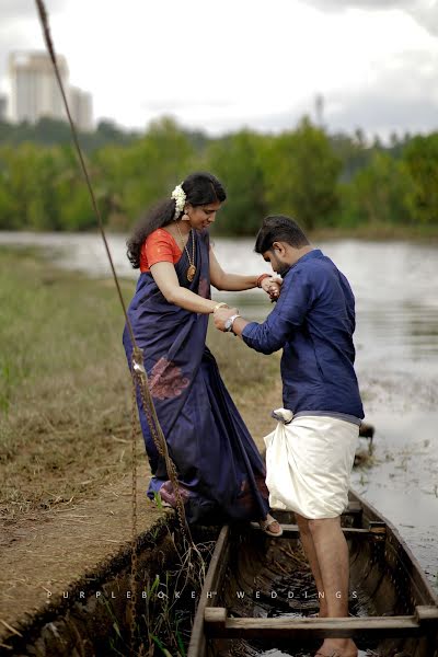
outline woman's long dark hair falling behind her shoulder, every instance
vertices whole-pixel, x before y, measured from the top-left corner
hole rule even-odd
[[[221,183],[211,173],[192,173],[181,186],[184,189],[186,203],[194,207],[217,201],[223,203],[227,198]],[[140,266],[140,252],[146,238],[154,230],[172,223],[175,220],[175,209],[176,205],[173,198],[162,200],[135,227],[132,234],[126,242],[127,256],[135,269]],[[180,212],[176,219],[183,215],[183,211]]]

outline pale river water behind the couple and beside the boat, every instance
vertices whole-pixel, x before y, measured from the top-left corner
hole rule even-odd
[[[216,239],[222,267],[261,273],[252,240]],[[110,276],[99,235],[0,232],[0,244],[36,245],[62,267]],[[136,278],[124,238],[110,235],[117,273]],[[366,419],[376,426],[374,463],[354,472],[354,487],[395,525],[438,592],[438,246],[407,242],[319,244],[356,296],[356,370]],[[261,290],[215,298],[263,320]]]

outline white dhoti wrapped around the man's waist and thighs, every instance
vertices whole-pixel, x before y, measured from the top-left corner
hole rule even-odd
[[[275,413],[284,422],[264,438],[270,507],[309,519],[339,516],[348,504],[359,427],[326,415]]]

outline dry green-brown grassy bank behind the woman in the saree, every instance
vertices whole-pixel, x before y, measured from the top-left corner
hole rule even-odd
[[[134,284],[123,288],[128,301]],[[130,471],[130,377],[112,281],[1,249],[0,315],[2,515],[95,495]],[[216,331],[208,342],[250,430],[262,436],[272,423],[254,408],[258,415],[277,395],[276,359]]]

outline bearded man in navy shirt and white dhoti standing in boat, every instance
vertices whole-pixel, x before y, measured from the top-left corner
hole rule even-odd
[[[283,348],[279,418],[288,424],[290,479],[281,489],[268,468],[270,503],[296,512],[320,616],[347,616],[348,548],[341,514],[364,417],[354,370],[355,298],[346,277],[288,217],[264,220],[255,251],[283,277],[275,309],[258,324],[221,308],[215,324],[263,354]],[[356,657],[357,647],[351,639],[327,638],[316,655]]]

